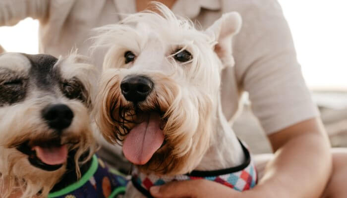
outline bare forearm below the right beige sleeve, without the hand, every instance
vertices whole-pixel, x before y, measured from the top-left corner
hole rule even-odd
[[[270,136],[270,141],[275,157],[259,184],[247,193],[266,198],[319,198],[332,167],[330,145],[320,121],[296,124]]]

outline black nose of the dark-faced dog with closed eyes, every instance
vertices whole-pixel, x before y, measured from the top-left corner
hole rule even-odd
[[[62,130],[70,126],[73,112],[65,104],[53,104],[43,109],[42,116],[52,129]]]

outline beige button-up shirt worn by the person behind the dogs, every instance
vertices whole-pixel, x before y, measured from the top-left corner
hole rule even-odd
[[[277,0],[177,0],[172,10],[203,28],[222,13],[241,14],[242,29],[233,42],[236,64],[222,76],[222,103],[228,119],[235,116],[244,91],[267,134],[318,116]],[[134,12],[135,0],[0,0],[0,26],[32,17],[40,21],[40,52],[58,56],[76,47],[88,55],[92,28],[116,23],[124,17],[121,14]],[[99,68],[103,53],[94,56]]]

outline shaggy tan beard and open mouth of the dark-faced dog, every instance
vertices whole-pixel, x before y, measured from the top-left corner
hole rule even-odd
[[[9,194],[17,189],[28,197],[47,197],[49,191],[67,171],[67,163],[76,164],[74,171],[80,178],[79,164],[89,160],[96,149],[94,143],[89,141],[91,138],[76,136],[66,139],[69,142],[64,143],[62,140],[61,143],[57,143],[58,139],[45,141],[37,139],[25,141],[17,147],[0,148],[3,155],[1,157],[3,164],[0,165],[2,172],[0,186],[6,186],[3,192]],[[88,154],[88,151],[89,155],[82,159],[81,156],[86,152]]]

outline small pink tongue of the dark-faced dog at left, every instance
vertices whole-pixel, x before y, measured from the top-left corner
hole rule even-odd
[[[36,146],[33,149],[35,149],[37,157],[39,157],[42,162],[49,165],[62,164],[67,159],[66,145],[52,148]]]

